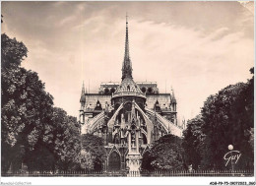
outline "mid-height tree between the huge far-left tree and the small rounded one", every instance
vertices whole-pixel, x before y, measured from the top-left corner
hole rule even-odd
[[[80,125],[77,119],[68,116],[61,108],[53,108],[53,127],[48,128],[45,142],[56,158],[58,169],[68,170],[78,166],[81,151]]]

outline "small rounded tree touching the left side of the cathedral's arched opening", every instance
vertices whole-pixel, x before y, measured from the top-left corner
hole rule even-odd
[[[94,162],[94,170],[102,170],[106,158],[103,139],[93,134],[82,136],[82,150],[89,153]],[[91,169],[92,166],[85,167]]]

